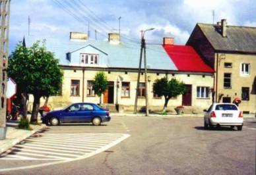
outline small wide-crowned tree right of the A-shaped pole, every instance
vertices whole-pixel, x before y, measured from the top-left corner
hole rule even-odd
[[[168,101],[172,97],[177,97],[177,95],[185,94],[185,84],[179,82],[175,78],[168,80],[167,77],[157,79],[153,84],[153,91],[158,97],[164,96],[164,109],[163,112],[166,112]]]

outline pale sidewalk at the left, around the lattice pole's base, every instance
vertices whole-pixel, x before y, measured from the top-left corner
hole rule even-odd
[[[33,125],[30,124],[33,130],[20,130],[17,123],[7,123],[7,136],[6,139],[0,140],[0,155],[4,153],[20,141],[32,136],[32,134],[46,127],[46,125]]]

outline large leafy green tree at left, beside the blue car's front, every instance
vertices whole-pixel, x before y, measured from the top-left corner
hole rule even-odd
[[[41,97],[56,95],[62,83],[63,72],[54,54],[46,50],[46,41],[36,41],[31,47],[19,43],[9,58],[7,73],[21,93],[34,96],[31,123],[38,119]]]

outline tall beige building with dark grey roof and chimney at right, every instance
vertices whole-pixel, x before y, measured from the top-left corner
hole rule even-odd
[[[243,114],[256,116],[256,28],[198,23],[187,45],[214,68],[214,101],[240,98]]]

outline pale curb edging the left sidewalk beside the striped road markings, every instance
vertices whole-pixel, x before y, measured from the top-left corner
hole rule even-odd
[[[39,130],[42,130],[43,128],[46,128],[45,124],[42,124],[42,126],[36,130],[32,130],[30,132],[28,132],[27,134],[24,134],[21,137],[18,137],[16,139],[11,139],[10,143],[7,143],[4,147],[0,148],[0,155],[2,153],[5,153],[5,151],[7,151],[8,149],[10,149],[11,147],[15,146],[17,143],[20,143],[20,141],[23,141],[24,139],[32,136],[33,134],[35,134],[36,132],[38,132]]]

